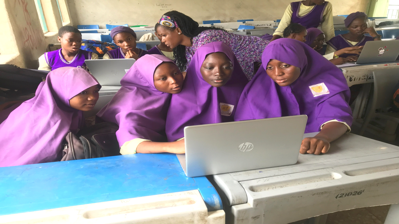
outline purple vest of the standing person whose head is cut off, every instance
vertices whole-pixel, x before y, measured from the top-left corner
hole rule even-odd
[[[328,2],[324,2],[322,5],[315,5],[312,11],[304,16],[299,16],[299,8],[300,2],[291,2],[291,9],[292,9],[292,17],[291,23],[301,24],[306,29],[314,27],[317,28],[320,23],[323,21],[323,14],[324,10],[326,10],[326,6]]]

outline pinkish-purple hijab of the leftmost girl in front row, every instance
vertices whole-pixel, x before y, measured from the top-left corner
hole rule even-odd
[[[71,108],[69,100],[97,84],[84,69],[51,71],[34,98],[0,124],[0,167],[59,161],[66,134],[76,133],[83,124],[82,111]]]

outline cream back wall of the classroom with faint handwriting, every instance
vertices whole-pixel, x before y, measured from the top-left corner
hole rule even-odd
[[[129,24],[154,26],[163,13],[182,12],[199,24],[203,20],[280,19],[292,0],[67,0],[74,25]],[[333,0],[333,14],[347,15],[367,8],[369,0]]]

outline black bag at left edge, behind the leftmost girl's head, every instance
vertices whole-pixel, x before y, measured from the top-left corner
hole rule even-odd
[[[0,96],[14,98],[36,92],[49,71],[22,69],[16,65],[0,65]]]

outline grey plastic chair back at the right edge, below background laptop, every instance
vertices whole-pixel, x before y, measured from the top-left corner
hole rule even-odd
[[[388,108],[391,106],[393,93],[395,92],[395,85],[399,81],[399,70],[397,68],[383,69],[374,71],[374,95],[373,108],[375,109]]]

